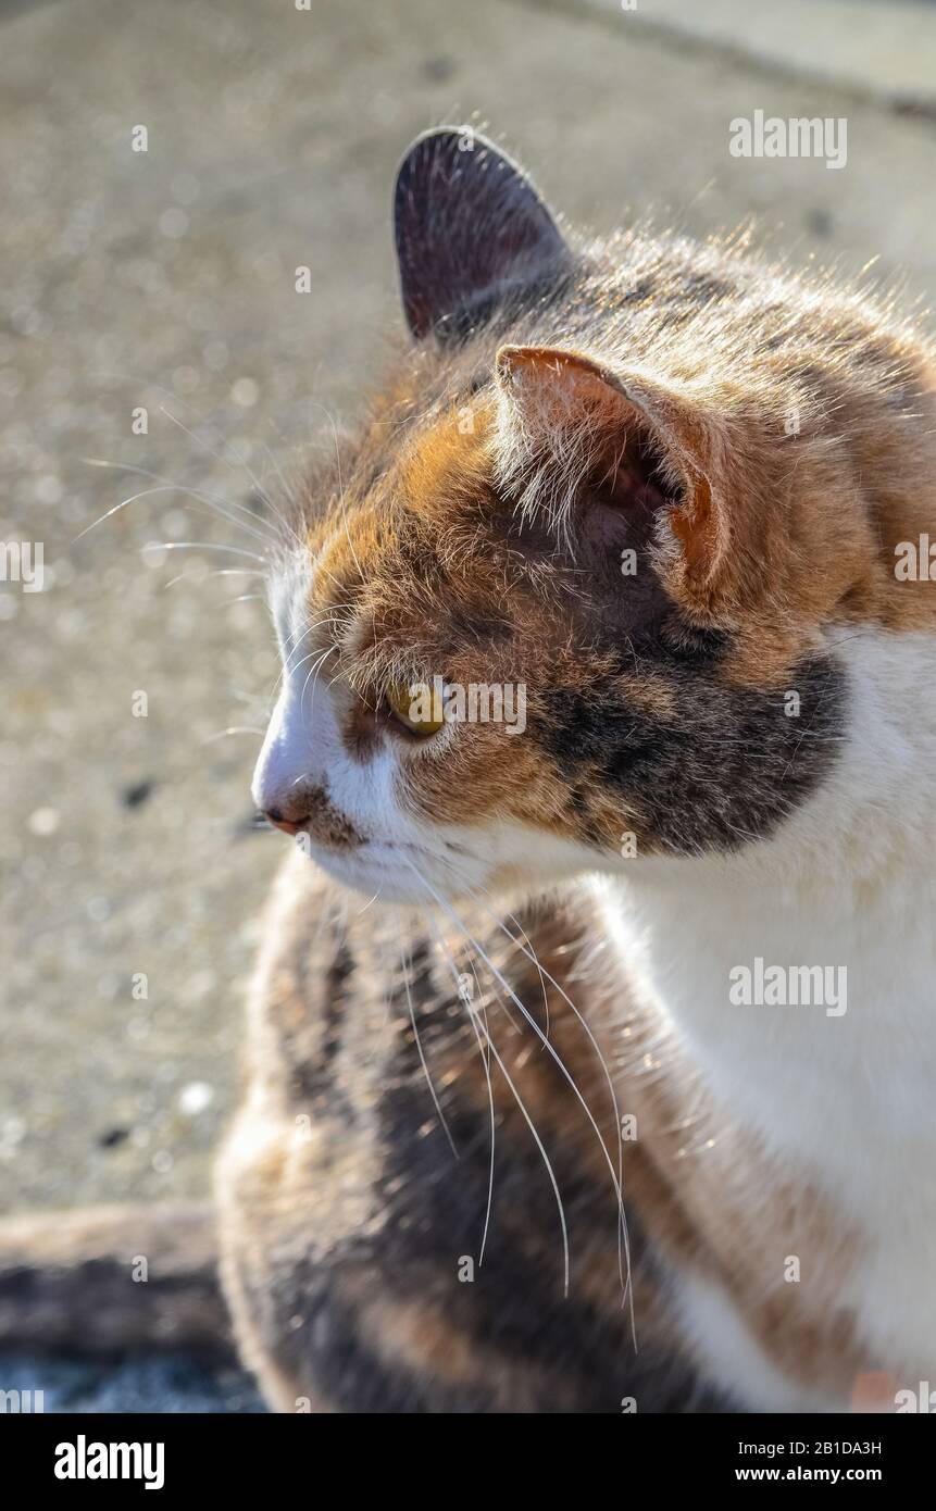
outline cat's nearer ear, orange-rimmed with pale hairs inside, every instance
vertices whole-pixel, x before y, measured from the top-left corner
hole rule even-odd
[[[711,580],[729,521],[711,482],[712,437],[691,402],[640,372],[552,346],[502,346],[494,378],[497,482],[525,514],[569,533],[584,490],[626,508],[615,479],[650,458],[664,556],[687,586]]]

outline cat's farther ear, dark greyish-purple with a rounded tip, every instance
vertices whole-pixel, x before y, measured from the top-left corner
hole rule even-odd
[[[529,178],[470,127],[413,142],[396,175],[396,255],[410,329],[484,323],[525,284],[558,280],[570,252]]]

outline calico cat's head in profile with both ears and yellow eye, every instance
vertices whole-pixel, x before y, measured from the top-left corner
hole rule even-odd
[[[384,896],[771,836],[848,737],[930,405],[910,337],[730,248],[572,243],[473,133],[396,187],[414,337],[272,585],[254,798]]]

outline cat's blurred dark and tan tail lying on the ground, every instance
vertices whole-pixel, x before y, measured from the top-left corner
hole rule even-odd
[[[233,1354],[209,1201],[0,1221],[0,1348]]]

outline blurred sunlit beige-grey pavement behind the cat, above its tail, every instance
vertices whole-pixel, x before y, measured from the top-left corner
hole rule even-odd
[[[732,157],[758,109],[845,166]],[[251,514],[380,379],[393,172],[463,119],[594,230],[936,289],[933,5],[0,0],[0,1212],[209,1189],[283,854]]]

